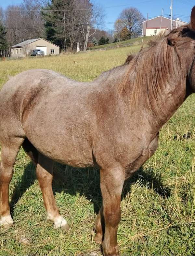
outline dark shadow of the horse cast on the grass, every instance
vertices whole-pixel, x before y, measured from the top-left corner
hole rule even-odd
[[[54,167],[53,191],[64,191],[71,195],[84,195],[94,205],[94,212],[98,212],[101,207],[100,175],[98,169],[86,168],[77,169],[70,166],[55,164]],[[11,199],[10,207],[13,212],[14,205],[22,197],[23,193],[34,183],[36,179],[35,167],[28,164],[24,170],[22,178],[16,183],[16,187]],[[131,191],[131,185],[139,179],[143,186],[152,188],[163,198],[170,196],[170,190],[162,185],[161,174],[154,172],[152,168],[143,170],[140,168],[131,178],[125,181],[122,197]]]

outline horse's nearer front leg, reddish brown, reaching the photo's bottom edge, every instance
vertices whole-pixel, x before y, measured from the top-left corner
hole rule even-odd
[[[121,218],[120,203],[124,180],[125,171],[121,166],[100,170],[100,187],[105,221],[102,248],[105,256],[119,255],[117,230]]]

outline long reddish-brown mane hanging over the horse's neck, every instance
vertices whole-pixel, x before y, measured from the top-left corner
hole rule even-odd
[[[189,31],[189,25],[174,29],[168,36],[150,41],[149,46],[142,49],[136,56],[130,55],[127,58],[125,64],[128,68],[120,91],[124,90],[126,93],[128,91],[134,106],[138,101],[144,101],[150,109],[154,110],[158,105],[159,95],[165,91],[166,84],[172,86],[173,80],[178,79],[179,73],[183,71],[182,75],[184,75],[178,45],[186,42],[185,35]],[[127,88],[127,85],[130,87]]]

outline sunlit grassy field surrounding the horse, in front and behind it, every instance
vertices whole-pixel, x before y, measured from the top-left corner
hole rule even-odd
[[[91,81],[121,65],[140,46],[105,52],[0,62],[0,86],[31,68],[48,68],[72,79]],[[195,255],[195,96],[191,96],[160,133],[155,155],[125,183],[118,229],[121,255]],[[99,172],[56,164],[64,180],[53,189],[68,232],[46,222],[34,167],[23,150],[10,184],[15,226],[0,228],[0,255],[101,255],[94,243],[96,212],[101,204]],[[94,213],[95,212],[95,213]]]

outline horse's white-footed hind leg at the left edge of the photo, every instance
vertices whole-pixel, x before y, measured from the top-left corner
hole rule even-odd
[[[9,183],[13,176],[13,167],[24,139],[14,138],[10,141],[1,141],[1,164],[0,164],[0,226],[13,225],[9,207]]]

